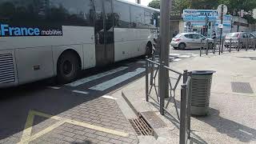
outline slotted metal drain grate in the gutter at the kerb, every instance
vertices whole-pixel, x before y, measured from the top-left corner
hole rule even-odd
[[[139,117],[135,119],[129,119],[131,126],[138,135],[153,135],[153,130],[144,118]]]

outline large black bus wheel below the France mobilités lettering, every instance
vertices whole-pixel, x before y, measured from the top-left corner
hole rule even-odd
[[[58,59],[58,82],[68,83],[74,81],[79,73],[78,56],[71,52],[66,52]]]

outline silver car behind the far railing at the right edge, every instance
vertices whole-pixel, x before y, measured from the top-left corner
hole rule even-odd
[[[230,47],[238,47],[238,39],[240,40],[241,46],[244,48],[247,43],[248,46],[254,46],[254,34],[250,34],[247,32],[236,32],[236,33],[229,33],[226,34],[224,46]]]

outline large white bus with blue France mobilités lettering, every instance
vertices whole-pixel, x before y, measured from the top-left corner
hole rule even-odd
[[[150,54],[159,10],[121,0],[0,0],[0,87]]]

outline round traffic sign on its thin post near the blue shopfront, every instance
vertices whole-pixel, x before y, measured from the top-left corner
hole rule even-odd
[[[219,37],[219,40],[220,40],[220,45],[219,45],[219,50],[218,50],[218,54],[220,55],[221,54],[221,49],[222,49],[222,53],[223,53],[223,43],[222,43],[222,29],[223,29],[223,15],[227,13],[227,6],[226,5],[219,5],[218,6],[218,14],[221,18],[221,23],[220,25],[218,26],[220,29],[221,29],[221,34],[220,34],[220,37]],[[222,48],[221,48],[222,47]]]

